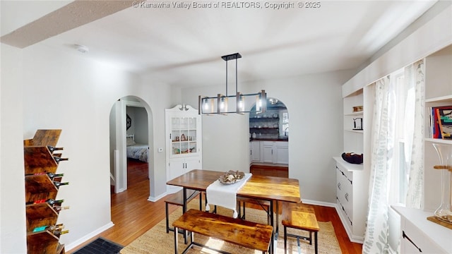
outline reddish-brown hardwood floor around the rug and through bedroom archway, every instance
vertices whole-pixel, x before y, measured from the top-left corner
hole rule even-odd
[[[157,202],[148,201],[149,179],[147,164],[129,160],[128,165],[127,191],[111,195],[112,222],[114,223],[114,226],[89,239],[81,244],[81,246],[66,250],[66,253],[71,254],[75,252],[98,236],[102,236],[110,241],[126,246],[138,238],[138,236],[141,236],[151,229],[162,219],[165,219],[165,199],[162,198]],[[319,222],[331,221],[333,223],[342,253],[362,253],[362,245],[359,243],[352,243],[348,239],[343,224],[340,222],[338,213],[333,207],[322,207],[318,205],[314,205],[313,207]],[[170,212],[174,211],[176,208],[177,206],[175,205],[169,206]],[[165,234],[165,232],[163,232],[163,234]]]

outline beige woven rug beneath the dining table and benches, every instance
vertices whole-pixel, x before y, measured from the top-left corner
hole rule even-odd
[[[199,209],[198,199],[195,198],[189,203],[189,208]],[[230,210],[222,210],[218,209],[218,213],[225,214],[227,216],[232,216],[232,212]],[[177,219],[182,214],[182,208],[177,208],[169,217],[169,225],[171,226],[172,222]],[[266,224],[266,213],[262,210],[256,210],[247,208],[246,209],[246,219],[258,222],[262,224]],[[281,223],[281,222],[280,222]],[[335,236],[333,224],[331,222],[319,222],[320,231],[319,231],[319,253],[328,253],[335,254],[341,253],[338,239]],[[155,225],[152,229],[147,231],[142,236],[136,238],[128,246],[124,247],[121,250],[121,254],[136,254],[136,253],[145,253],[145,254],[171,254],[174,253],[174,232],[169,231],[169,234],[166,233],[165,219]],[[215,229],[212,229],[215,230]],[[305,231],[294,231],[294,229],[287,229],[290,233],[297,233],[305,236],[309,236]],[[284,253],[284,229],[280,224],[280,234],[278,236],[278,244],[277,251],[278,254]],[[179,236],[179,252],[186,248],[184,244],[184,238],[182,234],[178,234]],[[314,234],[313,234],[314,236]],[[217,239],[208,238],[206,236],[201,236],[199,234],[195,234],[195,241],[198,243],[206,244],[207,246],[225,250],[230,253],[261,253],[257,250],[250,250],[248,248],[243,248],[240,246],[236,246],[231,243],[225,243],[224,241],[219,241]],[[309,245],[309,242],[300,239],[300,253],[314,253],[314,242],[313,245]],[[201,248],[198,246],[194,246],[188,253],[217,253],[213,250],[209,250],[207,248]],[[299,249],[297,247],[297,239],[289,237],[287,238],[287,253],[299,253]]]

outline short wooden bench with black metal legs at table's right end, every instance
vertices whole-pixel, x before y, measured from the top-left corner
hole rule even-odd
[[[312,233],[314,232],[314,249],[319,253],[317,244],[317,233],[319,232],[319,223],[312,207],[302,203],[283,202],[283,215],[281,223],[284,226],[284,253],[287,253],[287,236],[296,237],[299,246],[299,238],[309,241],[312,244]],[[309,237],[287,234],[287,227],[309,231]]]

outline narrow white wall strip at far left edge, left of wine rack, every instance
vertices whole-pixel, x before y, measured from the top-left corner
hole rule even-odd
[[[0,253],[26,253],[22,52],[0,47]]]

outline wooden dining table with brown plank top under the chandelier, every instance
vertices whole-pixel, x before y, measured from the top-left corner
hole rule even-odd
[[[167,184],[182,187],[184,193],[182,210],[186,212],[187,190],[206,191],[207,187],[214,181],[217,181],[223,174],[225,172],[194,169],[168,181]],[[261,175],[252,175],[244,186],[239,189],[237,196],[270,201],[269,214],[270,224],[273,226],[274,241],[277,240],[279,232],[278,202],[300,202],[301,200],[298,179]],[[275,244],[273,241],[270,243],[270,246],[270,253],[274,253]]]

